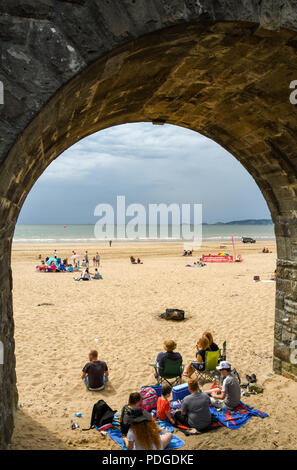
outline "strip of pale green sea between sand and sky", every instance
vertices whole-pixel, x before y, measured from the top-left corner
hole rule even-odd
[[[193,229],[193,226],[190,226]],[[166,234],[164,235],[164,227],[158,225],[156,227],[156,236],[148,237],[148,226],[145,226],[143,231],[146,236],[139,236],[135,239],[129,239],[112,236],[102,236],[97,238],[94,232],[95,225],[91,224],[71,224],[71,225],[56,225],[56,224],[17,224],[14,232],[14,243],[96,243],[113,240],[113,242],[184,242],[181,236],[173,236],[180,227],[168,226]],[[115,226],[116,230],[119,228],[122,232],[124,226]],[[162,233],[161,233],[162,232]],[[241,241],[242,237],[252,237],[259,241],[275,240],[274,225],[202,225],[202,242],[221,241],[226,242],[231,240]]]

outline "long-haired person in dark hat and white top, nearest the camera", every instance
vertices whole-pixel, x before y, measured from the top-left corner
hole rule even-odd
[[[127,434],[128,450],[163,450],[172,439],[173,433],[163,434],[164,431],[153,421],[152,415],[141,408],[133,408],[126,421],[130,426]]]

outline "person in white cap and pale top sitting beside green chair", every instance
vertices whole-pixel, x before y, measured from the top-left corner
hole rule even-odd
[[[224,377],[222,387],[216,384],[217,388],[207,391],[211,395],[211,404],[215,408],[233,410],[240,403],[241,391],[238,378],[231,374],[231,364],[222,361],[217,366],[221,376]]]

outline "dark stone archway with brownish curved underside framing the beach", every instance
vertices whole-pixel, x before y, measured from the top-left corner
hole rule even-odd
[[[0,447],[17,400],[10,254],[18,214],[51,161],[117,124],[188,127],[254,177],[277,237],[274,369],[296,378],[296,9],[281,0],[42,0],[38,11],[22,3],[0,6]]]

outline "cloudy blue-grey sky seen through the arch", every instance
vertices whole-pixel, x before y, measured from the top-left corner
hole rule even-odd
[[[125,124],[60,155],[28,195],[19,223],[94,224],[99,203],[202,203],[203,221],[270,218],[243,166],[222,147],[181,127]]]

